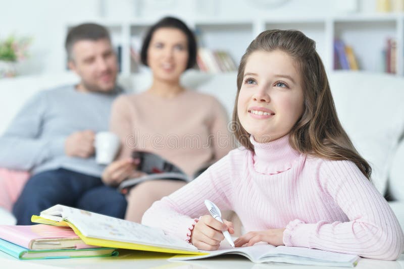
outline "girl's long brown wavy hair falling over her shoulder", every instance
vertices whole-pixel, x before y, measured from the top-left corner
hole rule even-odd
[[[286,52],[300,70],[304,92],[304,112],[290,130],[289,143],[295,150],[330,160],[350,160],[370,180],[372,169],[361,157],[341,126],[335,110],[323,62],[316,42],[296,30],[267,30],[247,47],[237,74],[237,95],[233,111],[233,133],[241,145],[254,151],[249,134],[237,115],[237,99],[243,82],[245,64],[254,51]]]

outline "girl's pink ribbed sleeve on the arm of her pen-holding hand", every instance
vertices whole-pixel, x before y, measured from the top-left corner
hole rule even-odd
[[[213,201],[221,211],[232,209],[234,184],[230,170],[227,155],[192,182],[153,203],[143,214],[142,224],[188,241],[195,219],[209,214],[205,199]]]

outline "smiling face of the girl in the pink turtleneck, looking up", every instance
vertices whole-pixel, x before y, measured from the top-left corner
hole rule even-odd
[[[242,127],[257,142],[288,134],[303,113],[303,101],[301,76],[287,53],[251,53],[238,95],[237,114]]]

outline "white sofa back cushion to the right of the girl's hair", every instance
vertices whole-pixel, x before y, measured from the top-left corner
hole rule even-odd
[[[369,162],[384,194],[392,158],[404,132],[404,80],[394,75],[340,71],[329,75],[342,126]]]

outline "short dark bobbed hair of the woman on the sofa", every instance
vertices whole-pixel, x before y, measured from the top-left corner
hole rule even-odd
[[[186,69],[194,67],[196,64],[197,49],[195,36],[183,21],[174,17],[165,17],[148,29],[143,39],[142,49],[140,51],[140,60],[142,61],[142,64],[147,66],[147,49],[150,44],[151,37],[153,36],[154,32],[160,28],[175,28],[181,30],[185,34],[188,41],[188,63],[186,65]]]

